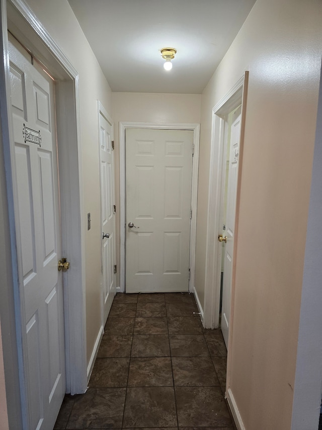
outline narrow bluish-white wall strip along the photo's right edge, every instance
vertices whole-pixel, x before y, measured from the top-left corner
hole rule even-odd
[[[322,69],[305,243],[292,430],[317,428],[322,389]]]

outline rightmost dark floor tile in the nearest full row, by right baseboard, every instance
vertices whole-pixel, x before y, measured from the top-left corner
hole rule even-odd
[[[219,387],[175,387],[179,426],[232,426]]]

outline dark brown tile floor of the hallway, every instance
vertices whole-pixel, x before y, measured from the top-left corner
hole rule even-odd
[[[188,293],[117,294],[89,389],[65,396],[54,429],[235,429],[221,331],[193,312]]]

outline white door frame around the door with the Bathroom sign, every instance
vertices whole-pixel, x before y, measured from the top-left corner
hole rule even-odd
[[[11,90],[8,54],[9,30],[48,68],[55,78],[57,142],[59,159],[59,177],[64,187],[60,188],[62,254],[70,261],[70,269],[63,275],[64,285],[64,326],[66,391],[72,394],[84,393],[87,389],[86,357],[86,309],[85,309],[85,216],[83,202],[83,174],[81,131],[79,121],[78,74],[59,46],[50,37],[40,21],[22,0],[1,0],[1,24],[3,43],[3,62],[1,73],[5,77],[6,87],[0,91],[2,105],[2,139],[4,143],[5,167],[10,218],[10,237],[12,246],[13,291],[15,315],[6,316],[8,324],[2,328],[16,332],[16,352],[6,350],[4,360],[19,363],[19,385],[11,389],[8,398],[8,415],[11,419],[17,414],[17,406],[22,410],[22,425],[27,428],[25,399],[27,397],[22,347],[25,334],[21,326],[19,279],[22,279],[22,255],[19,249],[19,224],[15,219],[15,207],[18,207],[15,183],[15,157],[13,145],[13,125],[11,119]],[[65,143],[68,142],[68,145]],[[6,286],[8,289],[11,285]],[[3,309],[2,309],[3,312]],[[6,311],[5,311],[6,313]],[[70,342],[72,339],[72,342]],[[6,385],[10,384],[6,381]],[[8,388],[7,388],[8,391]],[[11,400],[13,406],[11,407]],[[16,409],[16,410],[15,410]],[[15,418],[12,418],[15,419]],[[18,428],[18,427],[17,427]]]

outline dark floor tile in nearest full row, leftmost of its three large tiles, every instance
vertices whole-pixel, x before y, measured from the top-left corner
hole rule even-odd
[[[121,428],[125,393],[126,388],[89,388],[77,395],[66,428]]]

